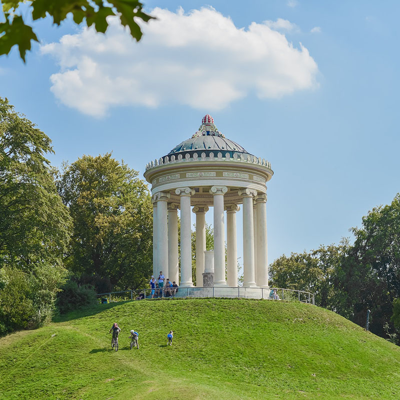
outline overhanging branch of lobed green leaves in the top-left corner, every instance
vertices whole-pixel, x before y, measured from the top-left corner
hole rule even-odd
[[[24,62],[26,51],[31,49],[31,40],[39,42],[32,26],[25,23],[27,19],[35,21],[50,15],[53,22],[60,25],[71,14],[75,23],[85,21],[88,26],[104,33],[109,25],[107,17],[118,15],[122,25],[129,27],[131,36],[139,41],[142,31],[135,18],[145,22],[154,18],[143,12],[143,4],[139,0],[32,0],[29,15],[24,8],[24,17],[21,10],[23,3],[27,7],[22,0],[2,0],[3,15],[0,14],[0,18],[5,22],[0,23],[0,55],[8,54],[14,45],[18,45]]]

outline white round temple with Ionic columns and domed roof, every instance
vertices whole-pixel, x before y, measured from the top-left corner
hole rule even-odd
[[[179,281],[179,208],[179,285],[193,286],[192,210],[196,214],[196,285],[202,286],[206,250],[205,214],[213,207],[213,285],[237,286],[236,211],[242,204],[243,287],[268,287],[266,182],[272,175],[271,164],[267,160],[248,153],[226,138],[208,114],[191,138],[178,144],[167,155],[149,162],[144,176],[151,183],[153,201],[154,276],[162,270],[170,281]]]

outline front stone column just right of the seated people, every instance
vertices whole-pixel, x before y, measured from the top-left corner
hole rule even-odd
[[[175,190],[181,197],[181,284],[182,287],[193,287],[192,282],[192,229],[190,217],[190,196],[194,190],[181,187]]]

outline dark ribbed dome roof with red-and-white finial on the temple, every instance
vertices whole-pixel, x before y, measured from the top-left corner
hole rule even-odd
[[[216,155],[216,152],[234,152],[249,154],[240,144],[229,140],[215,126],[214,118],[206,114],[199,127],[199,130],[187,140],[175,146],[167,155],[181,153],[184,156],[186,153],[205,152],[208,156],[211,151]],[[200,154],[199,154],[200,155]]]

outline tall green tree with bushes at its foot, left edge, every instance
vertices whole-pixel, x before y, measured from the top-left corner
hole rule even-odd
[[[49,152],[53,152],[50,138],[17,113],[7,98],[0,97],[0,319],[6,321],[3,329],[0,327],[3,332],[49,320],[65,274],[63,257],[71,220],[45,156]],[[15,293],[19,293],[21,301]],[[25,304],[24,316],[16,302]]]

